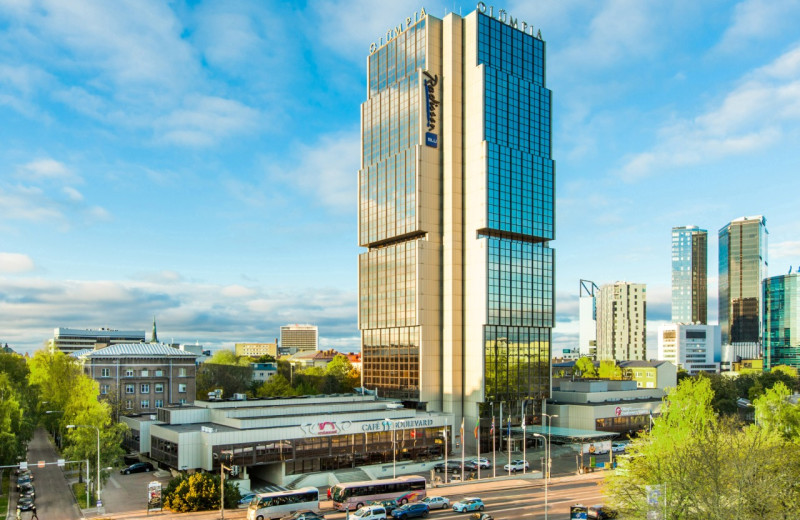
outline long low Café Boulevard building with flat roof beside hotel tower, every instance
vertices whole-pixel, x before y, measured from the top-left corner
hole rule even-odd
[[[393,466],[427,473],[444,454],[442,435],[452,449],[458,430],[452,415],[357,394],[196,401],[123,421],[130,449],[179,470],[237,466],[245,489],[250,476],[324,486],[337,469],[363,468],[362,480],[391,477]]]

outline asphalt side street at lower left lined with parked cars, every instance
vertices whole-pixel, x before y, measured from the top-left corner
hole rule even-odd
[[[48,464],[43,468],[36,467],[40,460],[56,462],[55,450],[48,442],[47,434],[41,428],[34,432],[28,444],[28,467],[33,474],[33,485],[36,488],[36,512],[42,520],[58,518],[59,520],[79,520],[81,518],[75,499],[69,489],[64,472],[56,464]],[[11,504],[9,518],[14,518],[17,507],[16,481],[11,483]],[[33,516],[31,512],[22,512],[23,520]]]

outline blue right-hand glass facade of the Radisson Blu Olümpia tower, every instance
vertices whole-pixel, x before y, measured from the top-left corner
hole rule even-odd
[[[547,397],[550,387],[552,95],[544,42],[481,13],[477,61],[484,66],[487,149],[485,400],[505,401],[518,417],[523,401]]]

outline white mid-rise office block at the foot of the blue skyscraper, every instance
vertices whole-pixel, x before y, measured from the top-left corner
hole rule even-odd
[[[668,323],[658,328],[658,359],[691,375],[719,373],[721,355],[718,325]]]

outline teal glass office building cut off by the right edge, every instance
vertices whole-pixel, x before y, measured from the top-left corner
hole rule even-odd
[[[764,368],[800,368],[800,274],[764,280]]]

